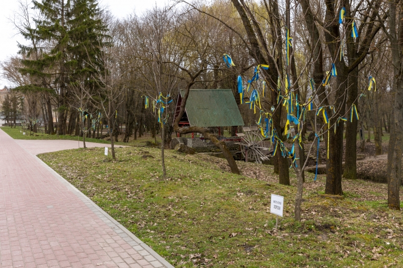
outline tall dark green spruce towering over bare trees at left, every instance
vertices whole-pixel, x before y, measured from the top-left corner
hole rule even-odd
[[[63,135],[69,86],[91,77],[106,27],[95,0],[42,0],[33,1],[33,5],[42,16],[35,20],[35,29],[27,28],[23,33],[32,46],[20,45],[20,53],[28,58],[22,61],[25,68],[21,72],[37,77],[38,82],[20,90],[51,89],[57,97],[57,134]]]

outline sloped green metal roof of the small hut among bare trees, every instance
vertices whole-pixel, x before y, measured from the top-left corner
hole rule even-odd
[[[181,90],[181,97],[184,94],[185,91]],[[190,126],[244,125],[231,90],[190,90],[185,110]]]

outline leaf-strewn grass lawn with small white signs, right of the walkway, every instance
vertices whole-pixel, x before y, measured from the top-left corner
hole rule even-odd
[[[306,173],[302,221],[293,220],[296,179],[277,184],[267,165],[166,150],[75,149],[39,157],[175,267],[402,267],[403,219],[386,207],[386,185],[343,181],[344,199],[319,196],[325,177]],[[257,179],[256,179],[257,176]],[[270,195],[285,197],[279,230]],[[403,192],[401,193],[403,194]]]

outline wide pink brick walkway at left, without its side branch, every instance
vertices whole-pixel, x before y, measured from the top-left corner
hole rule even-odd
[[[0,178],[0,267],[173,267],[1,129]]]

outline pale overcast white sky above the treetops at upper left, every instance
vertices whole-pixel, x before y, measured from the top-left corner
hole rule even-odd
[[[101,6],[108,6],[111,13],[117,18],[123,18],[132,12],[140,15],[153,6],[164,6],[167,0],[99,0]],[[17,42],[24,42],[17,31],[9,22],[8,18],[18,9],[16,0],[0,0],[0,61],[5,61],[12,55],[17,54]],[[8,82],[0,77],[0,88],[8,85]]]

